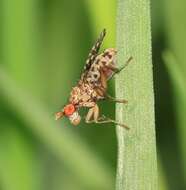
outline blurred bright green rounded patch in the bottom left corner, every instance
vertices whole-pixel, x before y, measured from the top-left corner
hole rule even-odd
[[[33,147],[14,123],[1,121],[0,181],[3,190],[37,190],[39,172]]]

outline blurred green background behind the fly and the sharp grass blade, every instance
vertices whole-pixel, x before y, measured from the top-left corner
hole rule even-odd
[[[115,126],[73,127],[54,113],[103,28],[103,48],[115,47],[116,7],[116,0],[0,1],[0,189],[114,189]],[[151,2],[162,190],[186,189],[185,9],[184,0]],[[113,103],[101,109],[114,117]]]

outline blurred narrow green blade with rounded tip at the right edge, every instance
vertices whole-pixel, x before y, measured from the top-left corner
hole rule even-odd
[[[170,52],[166,51],[163,54],[165,65],[167,67],[168,73],[172,82],[172,89],[174,94],[174,107],[177,117],[177,127],[179,134],[179,143],[182,153],[182,165],[184,171],[184,178],[186,179],[186,89],[185,89],[185,76],[184,71],[181,69],[181,66],[178,64],[175,56]]]

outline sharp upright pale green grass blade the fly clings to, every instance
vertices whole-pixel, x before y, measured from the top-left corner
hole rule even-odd
[[[116,95],[128,100],[117,105],[116,118],[128,125],[117,127],[117,190],[156,190],[154,92],[151,62],[149,0],[118,0],[118,66],[133,61],[116,77]]]

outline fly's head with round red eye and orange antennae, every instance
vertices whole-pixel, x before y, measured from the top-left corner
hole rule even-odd
[[[63,116],[68,117],[73,125],[78,125],[81,121],[81,116],[73,104],[67,104],[62,111],[55,114],[56,120],[62,118]]]

